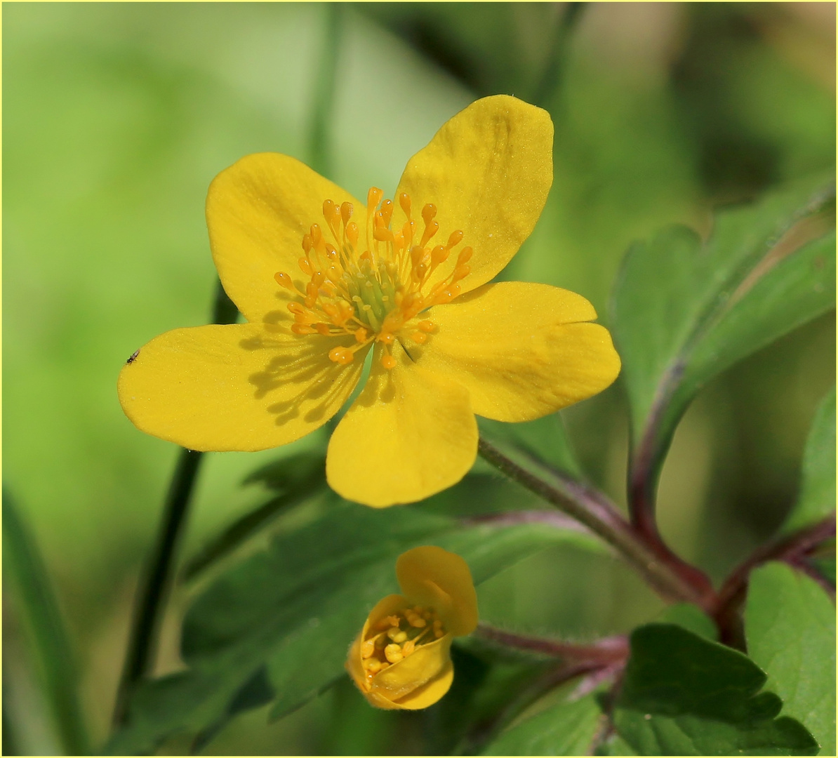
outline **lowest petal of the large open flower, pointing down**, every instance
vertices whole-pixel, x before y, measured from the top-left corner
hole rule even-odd
[[[414,364],[396,343],[396,368],[376,348],[370,379],[328,443],[329,486],[383,508],[413,503],[459,482],[477,456],[468,392]]]

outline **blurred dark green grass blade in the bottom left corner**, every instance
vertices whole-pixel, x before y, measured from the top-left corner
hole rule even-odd
[[[32,632],[61,745],[67,755],[90,755],[91,746],[79,703],[75,656],[58,602],[38,545],[5,489],[3,564],[8,567],[8,575],[18,590],[20,614]],[[8,723],[8,713],[3,705],[3,754],[9,755],[8,749],[16,750],[20,745],[14,745],[14,730]],[[8,735],[7,727],[10,728]]]

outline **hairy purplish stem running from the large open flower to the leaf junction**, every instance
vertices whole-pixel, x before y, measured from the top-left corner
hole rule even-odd
[[[680,565],[662,560],[602,492],[531,462],[532,467],[539,469],[539,475],[535,475],[482,437],[478,451],[507,477],[560,508],[612,545],[666,600],[692,602],[705,608],[711,605],[713,596],[709,582],[706,587],[697,585],[692,576],[695,569],[689,567],[691,571],[687,572]]]

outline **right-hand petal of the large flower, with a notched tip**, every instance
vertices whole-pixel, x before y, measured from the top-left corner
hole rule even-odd
[[[424,314],[423,314],[424,315]],[[526,421],[585,400],[617,378],[608,330],[573,292],[519,281],[481,287],[429,317],[417,365],[468,388],[474,413]]]

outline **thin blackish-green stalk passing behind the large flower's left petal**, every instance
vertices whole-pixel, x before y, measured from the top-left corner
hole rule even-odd
[[[238,309],[219,282],[215,292],[213,322],[233,323],[236,317]],[[181,449],[168,487],[158,539],[137,591],[137,606],[128,639],[125,664],[119,688],[116,690],[113,721],[117,725],[122,724],[126,718],[128,699],[133,688],[153,669],[158,632],[172,583],[178,543],[186,525],[189,503],[202,456],[200,452]]]

